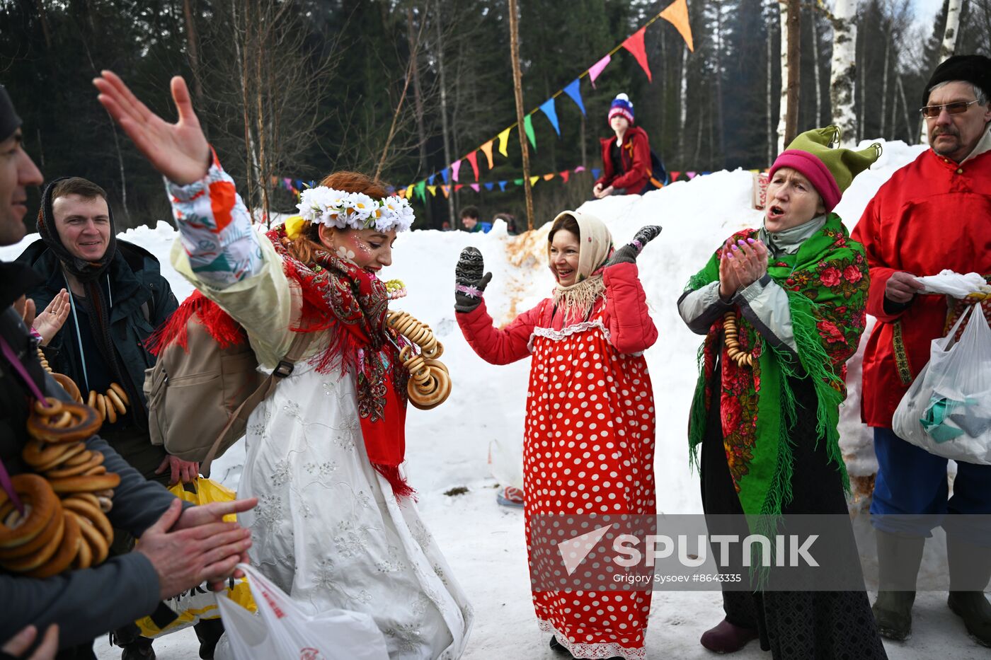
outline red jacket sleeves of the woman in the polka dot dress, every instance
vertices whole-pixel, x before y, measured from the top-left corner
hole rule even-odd
[[[624,354],[646,351],[657,341],[657,328],[647,313],[647,296],[640,285],[635,264],[615,264],[603,273],[606,282],[606,313],[604,321],[609,342]],[[554,306],[543,300],[533,309],[517,316],[502,330],[493,327],[493,318],[485,300],[470,312],[455,316],[469,345],[483,360],[494,365],[507,365],[530,355],[528,348],[534,327],[560,330],[565,326],[564,314],[551,316]],[[596,311],[602,303],[597,303]],[[593,312],[593,314],[596,313]],[[571,319],[571,322],[575,322]]]

